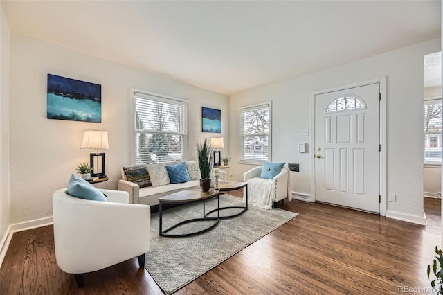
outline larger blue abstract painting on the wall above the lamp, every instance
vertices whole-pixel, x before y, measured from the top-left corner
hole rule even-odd
[[[102,123],[102,86],[48,74],[47,118]]]

